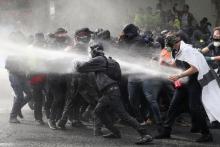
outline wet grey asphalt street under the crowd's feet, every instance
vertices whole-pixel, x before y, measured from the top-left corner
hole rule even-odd
[[[82,128],[67,126],[66,131],[51,130],[48,125],[39,126],[33,118],[33,111],[27,106],[22,110],[24,119],[21,124],[8,123],[12,105],[12,90],[7,74],[0,73],[0,147],[114,147],[135,146],[138,134],[127,126],[119,125],[122,139],[108,140],[93,136],[92,125]],[[44,121],[47,120],[44,118]],[[149,134],[155,135],[155,127],[148,126]],[[171,139],[154,140],[144,146],[152,147],[220,147],[220,130],[211,130],[214,136],[213,143],[199,144],[193,140],[199,134],[189,133],[189,127],[175,126]]]

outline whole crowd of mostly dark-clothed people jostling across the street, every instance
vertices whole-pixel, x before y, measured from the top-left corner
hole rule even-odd
[[[21,109],[28,103],[40,125],[45,125],[45,110],[50,129],[66,129],[68,121],[73,127],[82,126],[86,121],[94,123],[95,136],[121,138],[114,124],[125,122],[140,134],[136,144],[146,144],[153,140],[147,133],[146,122],[153,120],[157,126],[155,139],[169,138],[175,120],[188,112],[191,132],[202,134],[196,141],[213,141],[207,120],[213,127],[220,126],[220,27],[212,33],[207,18],[192,27],[194,17],[188,5],[184,5],[183,12],[175,6],[173,9],[178,14],[174,17],[180,24],[178,30],[168,28],[152,33],[128,24],[116,38],[109,30],[89,28],[75,31],[73,37],[64,28],[47,35],[36,33],[26,39],[21,32],[11,33],[9,38],[14,43],[26,42],[37,48],[66,53],[89,53],[91,58],[77,62],[76,72],[72,74],[57,74],[27,73],[22,67],[27,61],[9,56],[6,69],[15,93],[9,122],[20,123]],[[138,72],[124,74],[114,57],[105,56],[105,50],[111,47],[127,52],[139,49],[150,52],[149,48],[159,48],[160,55],[152,57],[153,60],[183,72],[167,79]],[[183,77],[188,77],[187,82],[181,81]],[[103,134],[103,127],[110,133]]]

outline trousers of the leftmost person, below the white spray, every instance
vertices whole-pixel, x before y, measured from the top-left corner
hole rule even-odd
[[[15,94],[10,118],[16,118],[21,108],[31,99],[31,90],[27,79],[23,76],[10,73],[9,80]]]

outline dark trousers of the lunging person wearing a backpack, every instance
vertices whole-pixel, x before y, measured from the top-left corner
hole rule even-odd
[[[112,116],[109,114],[109,110],[112,110],[117,116],[128,125],[136,129],[141,135],[141,126],[136,119],[131,117],[125,110],[121,99],[120,90],[116,86],[115,89],[108,88],[103,92],[102,97],[99,99],[98,104],[95,108],[95,115],[101,120],[101,122],[113,133],[120,133],[115,127],[112,121]]]

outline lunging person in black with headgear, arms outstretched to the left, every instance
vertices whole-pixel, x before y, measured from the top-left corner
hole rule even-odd
[[[96,43],[91,45],[89,53],[92,59],[85,63],[78,63],[76,69],[80,73],[95,72],[96,84],[102,97],[98,100],[98,104],[95,108],[95,115],[101,120],[101,122],[108,128],[111,133],[103,135],[105,138],[121,138],[120,131],[114,126],[112,118],[109,115],[109,109],[114,111],[121,120],[127,122],[131,127],[136,129],[141,135],[141,138],[136,142],[137,144],[146,144],[153,139],[150,135],[146,134],[146,129],[143,128],[133,117],[131,117],[125,110],[122,101],[120,99],[120,90],[117,80],[120,78],[120,67],[116,75],[110,70],[109,60],[104,55],[104,48],[102,44]]]

